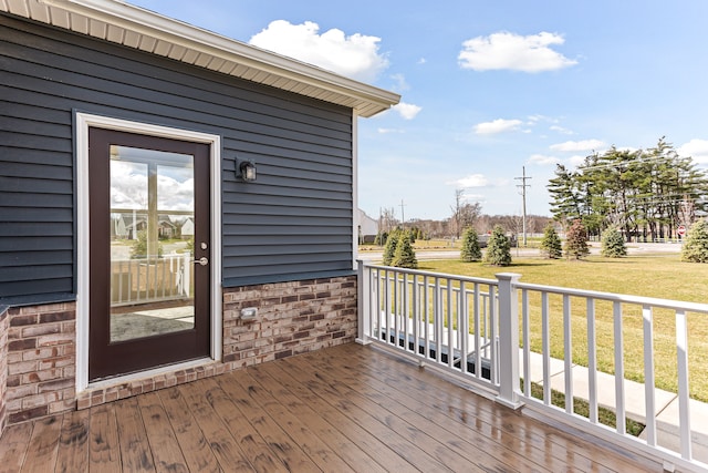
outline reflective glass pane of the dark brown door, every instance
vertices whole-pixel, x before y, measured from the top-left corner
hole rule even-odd
[[[194,156],[110,153],[111,342],[192,329]]]

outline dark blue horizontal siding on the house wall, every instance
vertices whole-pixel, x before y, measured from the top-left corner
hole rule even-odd
[[[351,274],[350,109],[10,16],[0,43],[0,299],[75,292],[76,110],[222,136],[225,286]]]

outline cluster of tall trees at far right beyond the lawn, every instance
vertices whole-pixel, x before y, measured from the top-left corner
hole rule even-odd
[[[590,236],[616,226],[627,240],[674,238],[708,209],[706,172],[664,137],[647,150],[594,153],[575,171],[559,164],[548,189],[553,218],[564,227],[580,218]]]

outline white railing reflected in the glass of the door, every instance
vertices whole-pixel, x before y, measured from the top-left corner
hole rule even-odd
[[[191,254],[111,261],[113,307],[189,297]]]

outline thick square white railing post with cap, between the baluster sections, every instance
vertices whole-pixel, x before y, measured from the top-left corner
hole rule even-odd
[[[521,275],[500,273],[499,281],[499,395],[497,402],[511,409],[519,401],[519,296],[516,284]],[[493,341],[493,340],[492,340]]]

